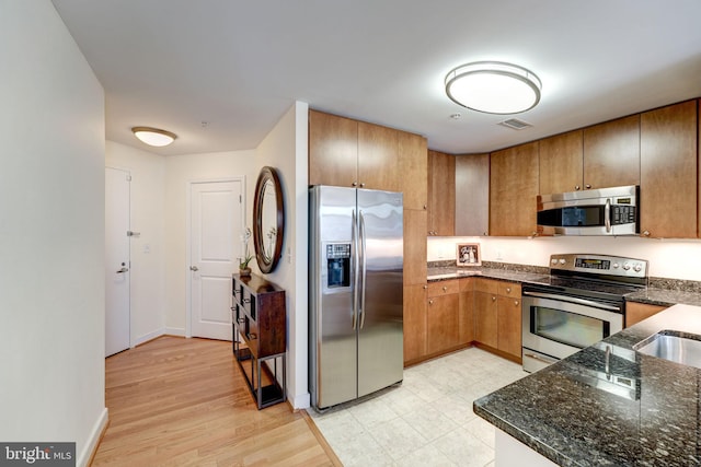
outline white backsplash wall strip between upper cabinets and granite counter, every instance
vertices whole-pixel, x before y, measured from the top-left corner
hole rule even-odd
[[[648,276],[701,281],[701,241],[640,237],[438,237],[428,240],[428,260],[456,259],[456,243],[480,243],[482,259],[548,267],[551,254],[599,253],[650,261]]]

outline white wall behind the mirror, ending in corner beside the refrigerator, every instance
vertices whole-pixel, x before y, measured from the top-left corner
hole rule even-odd
[[[308,115],[297,102],[256,149],[260,167],[277,168],[285,198],[283,258],[267,279],[285,289],[287,299],[287,394],[295,408],[309,407],[308,388]],[[249,225],[255,180],[249,186]]]

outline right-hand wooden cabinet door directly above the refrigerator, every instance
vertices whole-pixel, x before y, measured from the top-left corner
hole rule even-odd
[[[358,183],[363,188],[399,191],[398,131],[358,121]]]

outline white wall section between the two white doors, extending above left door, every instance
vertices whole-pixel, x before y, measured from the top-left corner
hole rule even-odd
[[[165,161],[107,141],[105,165],[131,174],[130,315],[131,346],[165,332]]]

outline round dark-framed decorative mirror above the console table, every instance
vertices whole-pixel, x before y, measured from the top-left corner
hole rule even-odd
[[[285,207],[277,171],[263,167],[253,200],[253,244],[261,272],[273,272],[283,253]]]

